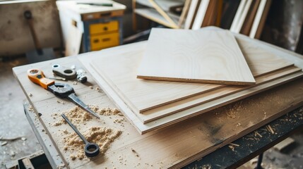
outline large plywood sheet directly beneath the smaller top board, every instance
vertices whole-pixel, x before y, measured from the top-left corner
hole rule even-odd
[[[258,46],[251,45],[245,40],[237,40],[246,56],[246,60],[249,61],[249,67],[252,73],[256,77],[292,65],[292,63],[285,61],[285,59],[274,56],[268,50],[259,49]],[[109,51],[102,55],[102,57],[96,58],[92,65],[95,66],[97,71],[100,71],[100,74],[115,88],[119,96],[124,98],[124,101],[126,101],[134,112],[145,113],[145,111],[151,109],[150,107],[160,107],[165,105],[165,103],[170,104],[177,100],[186,102],[185,98],[189,94],[190,96],[194,96],[207,92],[210,89],[211,86],[209,85],[197,86],[187,83],[165,83],[136,79],[136,69],[140,63],[143,52],[143,50],[140,49],[145,49],[145,45],[133,45],[133,50],[121,52],[121,54],[111,53]],[[114,62],[116,66],[112,68],[112,63]],[[125,73],[121,74],[121,72]],[[172,84],[174,84],[174,87],[172,87]],[[141,99],[142,95],[146,96],[144,100]],[[178,99],[179,96],[182,97]],[[172,99],[173,101],[167,101],[168,99]],[[143,107],[143,104],[146,106]]]

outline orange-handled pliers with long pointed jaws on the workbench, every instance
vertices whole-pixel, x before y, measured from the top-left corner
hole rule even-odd
[[[39,69],[30,69],[28,70],[28,78],[36,83],[39,84],[44,89],[47,89],[49,92],[52,92],[55,96],[60,98],[66,98],[71,100],[74,104],[83,108],[83,110],[88,111],[96,118],[100,118],[95,112],[93,112],[86,104],[84,104],[78,96],[76,96],[75,92],[73,91],[73,87],[69,84],[64,83],[55,83],[54,80],[49,80],[44,76],[42,70]]]

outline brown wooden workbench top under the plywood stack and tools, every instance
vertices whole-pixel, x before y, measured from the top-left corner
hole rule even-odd
[[[81,58],[85,59],[98,55],[99,52],[88,53],[83,54]],[[69,66],[70,63],[83,66],[76,61],[75,57],[60,58],[55,61],[65,66]],[[167,127],[165,130],[144,135],[138,134],[130,123],[126,122],[122,127],[113,123],[113,120],[109,117],[102,116],[102,123],[93,119],[86,125],[80,125],[79,128],[81,128],[81,131],[85,131],[86,128],[93,125],[115,127],[122,130],[121,136],[104,155],[90,160],[72,161],[69,152],[64,151],[64,144],[62,144],[63,131],[72,132],[71,128],[67,125],[58,128],[49,124],[57,121],[52,117],[52,113],[69,110],[73,107],[73,104],[70,102],[58,104],[56,97],[49,97],[51,94],[32,84],[26,77],[28,68],[44,68],[46,74],[52,73],[52,62],[24,65],[14,68],[13,71],[18,77],[22,89],[26,91],[25,96],[28,97],[35,109],[35,112],[30,113],[42,113],[41,116],[37,115],[37,118],[44,126],[44,132],[54,142],[56,149],[59,151],[59,156],[64,159],[64,163],[69,168],[134,168],[134,166],[136,168],[181,168],[297,108],[302,105],[303,100],[303,90],[300,89],[303,83],[301,79],[244,101],[239,101],[237,104],[199,115],[179,125]],[[88,73],[88,77],[91,77],[90,73]],[[94,87],[96,86],[91,78],[89,82]],[[72,85],[72,82],[67,83]],[[76,92],[82,91],[78,96],[88,104],[114,107],[104,93],[96,92],[84,84],[74,85],[73,87],[77,87]],[[32,93],[32,96],[28,96],[30,93]],[[230,117],[230,112],[234,113],[234,118]],[[266,115],[264,115],[264,112],[266,112]],[[299,118],[302,117],[302,113],[297,115]],[[137,152],[138,157],[131,149]],[[121,158],[123,158],[123,163],[120,163]]]

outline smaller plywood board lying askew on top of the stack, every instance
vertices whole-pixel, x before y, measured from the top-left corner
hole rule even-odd
[[[229,31],[153,28],[137,77],[148,80],[255,84]]]

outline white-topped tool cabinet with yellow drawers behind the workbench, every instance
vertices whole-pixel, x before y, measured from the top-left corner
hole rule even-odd
[[[114,1],[85,1],[85,4],[83,1],[57,1],[57,6],[64,41],[73,24],[83,32],[83,52],[122,44],[122,16],[126,6]]]

